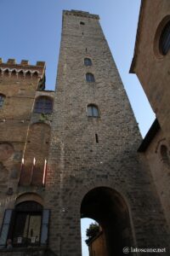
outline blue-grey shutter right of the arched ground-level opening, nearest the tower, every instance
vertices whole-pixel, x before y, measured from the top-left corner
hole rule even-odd
[[[42,211],[41,245],[48,244],[48,226],[49,226],[49,210],[44,209]]]

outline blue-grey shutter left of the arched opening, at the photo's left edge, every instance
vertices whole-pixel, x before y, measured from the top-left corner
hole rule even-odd
[[[8,229],[9,229],[12,212],[13,212],[13,210],[11,210],[11,209],[5,210],[2,229],[1,229],[1,235],[0,235],[0,248],[6,246],[7,237],[8,237]]]

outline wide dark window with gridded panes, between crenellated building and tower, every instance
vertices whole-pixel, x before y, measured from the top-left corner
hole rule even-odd
[[[52,113],[53,111],[53,100],[47,96],[37,97],[34,113]]]

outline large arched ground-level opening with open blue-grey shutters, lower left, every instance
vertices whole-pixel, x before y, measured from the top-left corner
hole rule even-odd
[[[14,210],[7,209],[0,236],[1,246],[10,241],[13,247],[47,245],[49,210],[37,201],[24,201]]]

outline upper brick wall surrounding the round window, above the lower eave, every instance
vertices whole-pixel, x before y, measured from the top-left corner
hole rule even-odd
[[[167,118],[170,113],[170,51],[162,55],[160,50],[161,32],[170,20],[170,2],[143,0],[142,3],[133,72],[137,74],[170,145],[170,122]]]

